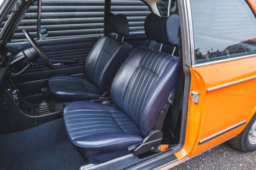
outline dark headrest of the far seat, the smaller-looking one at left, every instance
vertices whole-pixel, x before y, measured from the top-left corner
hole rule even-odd
[[[108,31],[114,32],[122,36],[129,35],[129,23],[127,18],[123,14],[107,14],[105,16],[105,26]]]

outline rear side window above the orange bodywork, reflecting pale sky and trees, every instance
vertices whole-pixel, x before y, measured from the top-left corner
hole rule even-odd
[[[245,0],[191,0],[195,62],[256,54],[256,18]]]

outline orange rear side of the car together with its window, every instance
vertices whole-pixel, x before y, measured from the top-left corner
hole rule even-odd
[[[255,1],[249,4],[190,0],[192,97],[185,144],[177,157],[194,156],[236,136],[256,113]]]

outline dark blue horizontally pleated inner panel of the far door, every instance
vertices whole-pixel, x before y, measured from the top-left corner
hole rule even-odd
[[[38,68],[31,66],[23,74],[15,77],[13,81],[23,94],[28,95],[38,93],[42,87],[47,87],[47,79],[54,75],[82,74],[84,73],[85,59],[98,39],[99,36],[37,41],[49,59],[77,59],[78,62],[72,65],[55,66],[55,69],[51,70],[44,64],[42,59],[39,58],[35,62],[35,64],[39,66]],[[17,54],[18,48],[26,49],[30,47],[29,42],[7,45],[8,51],[13,55]]]

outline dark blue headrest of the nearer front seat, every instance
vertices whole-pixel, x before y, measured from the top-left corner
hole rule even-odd
[[[146,17],[144,27],[148,38],[167,45],[179,45],[179,15],[159,17],[157,14],[151,13]]]

